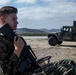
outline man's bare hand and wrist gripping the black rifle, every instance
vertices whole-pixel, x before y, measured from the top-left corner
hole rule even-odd
[[[18,39],[16,40],[16,36],[15,36],[15,38],[14,38],[14,53],[19,57],[20,56],[20,53],[21,53],[21,51],[22,51],[22,49],[23,49],[23,47],[24,47],[24,42],[23,42],[23,40],[20,38],[20,37],[18,37]]]

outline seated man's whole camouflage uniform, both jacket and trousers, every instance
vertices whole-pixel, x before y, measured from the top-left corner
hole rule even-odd
[[[0,34],[0,64],[4,75],[76,75],[76,64],[72,60],[61,60],[43,67],[41,72],[20,74],[17,69],[21,59],[14,53],[13,41]],[[53,67],[51,69],[51,67]]]

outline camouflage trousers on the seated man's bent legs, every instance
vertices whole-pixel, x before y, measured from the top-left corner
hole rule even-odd
[[[32,75],[76,75],[76,63],[70,59],[46,64],[42,72]]]

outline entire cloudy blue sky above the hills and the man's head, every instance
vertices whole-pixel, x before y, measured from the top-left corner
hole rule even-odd
[[[18,8],[18,28],[60,29],[76,20],[76,0],[0,0]]]

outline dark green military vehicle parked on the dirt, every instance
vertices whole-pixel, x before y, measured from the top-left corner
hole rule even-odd
[[[48,43],[51,46],[63,41],[76,41],[76,21],[73,21],[73,26],[63,26],[60,32],[48,34]]]

